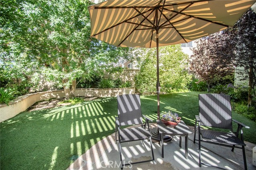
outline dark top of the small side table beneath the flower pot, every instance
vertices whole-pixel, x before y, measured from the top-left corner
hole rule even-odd
[[[182,120],[174,128],[164,125],[162,121],[158,121],[157,126],[159,133],[166,133],[170,135],[188,135],[193,133]]]

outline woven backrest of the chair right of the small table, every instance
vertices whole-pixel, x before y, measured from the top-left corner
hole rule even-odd
[[[201,125],[232,131],[230,96],[225,94],[199,94]]]

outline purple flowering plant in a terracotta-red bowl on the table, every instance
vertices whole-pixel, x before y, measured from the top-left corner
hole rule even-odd
[[[161,121],[169,127],[176,127],[180,122],[181,117],[179,117],[178,113],[172,113],[172,111],[168,111],[167,113],[162,115]]]

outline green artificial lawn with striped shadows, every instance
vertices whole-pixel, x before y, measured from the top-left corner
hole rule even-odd
[[[199,92],[160,95],[160,110],[177,112],[187,125],[198,115]],[[156,96],[141,96],[142,114],[156,119]],[[0,123],[0,168],[3,170],[64,170],[73,155],[114,133],[116,98],[103,98],[75,106],[22,112]],[[256,143],[256,123],[233,113],[250,126],[246,141]]]

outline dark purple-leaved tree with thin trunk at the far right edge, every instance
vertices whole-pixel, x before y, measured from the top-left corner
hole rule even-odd
[[[235,44],[235,66],[242,67],[245,71],[238,71],[238,74],[244,76],[248,80],[248,107],[252,105],[252,94],[256,97],[256,14],[253,10],[249,9],[238,20],[236,25],[231,31],[226,33],[229,41]],[[255,105],[256,107],[256,105]]]

